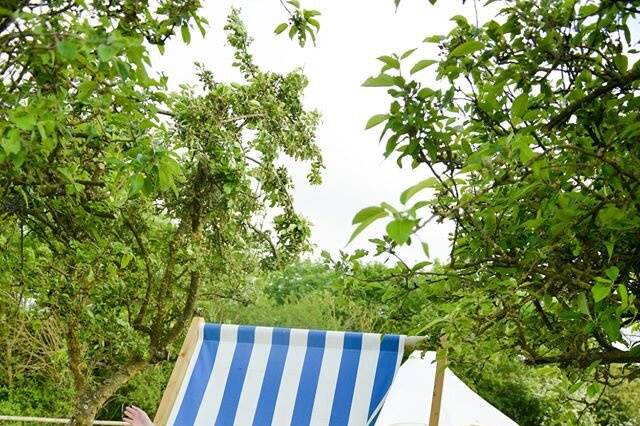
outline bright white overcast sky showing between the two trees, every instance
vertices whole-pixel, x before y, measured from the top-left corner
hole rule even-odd
[[[202,14],[210,23],[206,37],[203,39],[193,30],[189,46],[183,46],[181,40],[172,42],[164,56],[154,58],[154,69],[169,76],[173,89],[180,84],[197,83],[193,66],[196,61],[212,70],[218,80],[237,80],[238,73],[231,67],[232,51],[222,29],[231,6],[242,10],[242,18],[255,39],[251,52],[260,67],[282,73],[303,68],[310,81],[305,104],[322,114],[317,143],[326,169],[320,186],[306,183],[306,169],[292,167],[291,173],[296,183],[296,207],[311,221],[312,241],[318,251],[336,254],[345,249],[354,229],[351,220],[358,210],[382,201],[398,205],[404,189],[428,177],[424,169],[400,169],[393,159],[384,160],[384,145],[378,143],[380,128],[365,131],[364,126],[373,114],[387,112],[390,97],[384,89],[364,88],[361,84],[378,73],[378,56],[421,47],[410,57],[410,65],[419,59],[435,59],[434,48],[422,40],[427,35],[448,32],[453,27],[450,18],[456,14],[473,22],[473,1],[463,6],[460,0],[440,0],[431,6],[426,0],[402,0],[396,12],[392,0],[302,0],[304,8],[322,12],[317,46],[304,49],[297,41],[289,40],[286,32],[279,36],[273,33],[288,17],[278,0],[204,3]],[[481,22],[490,18],[489,11],[480,6],[479,9]],[[433,68],[428,68],[421,72],[421,78],[433,78],[433,73]],[[432,259],[446,259],[450,226],[429,226],[421,237],[428,242]],[[382,233],[381,221],[346,249],[372,249],[367,239]],[[401,253],[409,261],[424,259],[419,244],[414,243],[414,247]]]

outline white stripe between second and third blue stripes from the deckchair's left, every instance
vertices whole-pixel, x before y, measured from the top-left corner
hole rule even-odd
[[[240,394],[240,401],[238,402],[238,411],[236,412],[234,424],[253,424],[258,400],[260,399],[262,382],[264,381],[264,373],[267,369],[269,352],[271,351],[272,336],[273,328],[256,327],[251,359],[249,359],[249,365],[247,366],[247,376],[244,379],[244,386],[242,387],[242,393]]]

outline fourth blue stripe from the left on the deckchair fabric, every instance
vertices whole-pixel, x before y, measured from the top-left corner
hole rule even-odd
[[[316,399],[316,388],[318,387],[325,341],[326,332],[309,331],[307,352],[302,364],[302,374],[300,375],[300,384],[298,385],[291,426],[309,426],[311,422],[311,411],[313,410],[313,402]]]

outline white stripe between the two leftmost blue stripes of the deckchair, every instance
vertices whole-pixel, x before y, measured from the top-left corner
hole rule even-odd
[[[211,426],[216,421],[237,340],[237,325],[222,325],[220,327],[220,346],[216,353],[213,371],[209,376],[209,383],[207,383],[207,388],[202,395],[200,410],[194,422],[195,426]]]

